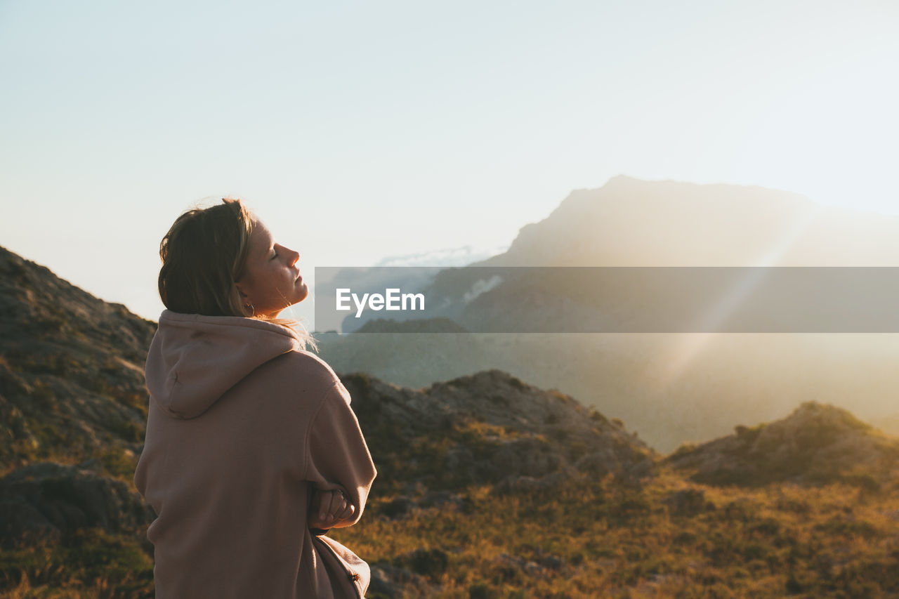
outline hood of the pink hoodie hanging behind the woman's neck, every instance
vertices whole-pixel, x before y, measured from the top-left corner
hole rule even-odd
[[[304,348],[288,326],[163,310],[147,353],[150,400],[171,416],[195,418],[263,363]]]

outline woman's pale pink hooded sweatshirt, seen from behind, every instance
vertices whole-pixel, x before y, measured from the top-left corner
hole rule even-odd
[[[369,567],[307,526],[314,487],[359,522],[376,471],[334,371],[288,327],[164,310],[135,484],[157,599],[356,597]],[[349,524],[348,524],[349,525]]]

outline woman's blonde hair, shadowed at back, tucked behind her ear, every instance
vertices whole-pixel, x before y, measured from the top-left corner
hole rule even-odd
[[[254,219],[244,202],[222,198],[207,208],[192,208],[175,219],[159,244],[159,297],[165,308],[182,314],[258,318],[244,306],[235,285],[250,253]],[[264,318],[288,326],[317,351],[316,340],[298,320]]]

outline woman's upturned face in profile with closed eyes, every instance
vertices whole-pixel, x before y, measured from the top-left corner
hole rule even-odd
[[[251,304],[255,316],[274,318],[284,308],[306,299],[309,288],[299,276],[299,255],[276,244],[263,221],[253,222],[250,253],[236,286],[241,303]]]

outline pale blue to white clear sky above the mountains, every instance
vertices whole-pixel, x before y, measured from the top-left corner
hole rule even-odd
[[[0,0],[0,246],[156,319],[159,241],[223,196],[313,284],[498,253],[616,174],[899,214],[895,31],[891,0]]]

